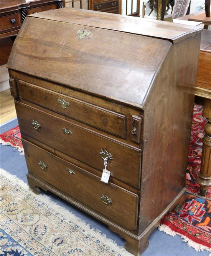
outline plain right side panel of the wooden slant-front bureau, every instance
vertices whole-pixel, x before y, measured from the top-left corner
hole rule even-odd
[[[173,44],[145,100],[140,233],[185,186],[200,34]]]

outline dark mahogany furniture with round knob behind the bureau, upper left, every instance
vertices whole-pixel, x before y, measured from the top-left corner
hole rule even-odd
[[[1,0],[0,65],[7,63],[13,41],[27,15],[62,8],[64,2],[64,0]]]

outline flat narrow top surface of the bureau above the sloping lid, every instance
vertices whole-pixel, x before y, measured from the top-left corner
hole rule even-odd
[[[104,12],[63,8],[53,12],[36,13],[31,15],[50,20],[69,22],[90,27],[106,28],[149,37],[163,38],[178,42],[185,37],[198,33],[202,28],[172,22],[150,20],[124,15],[112,15]]]

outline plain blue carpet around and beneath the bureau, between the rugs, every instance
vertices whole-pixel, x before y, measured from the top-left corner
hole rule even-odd
[[[9,129],[12,129],[18,125],[17,120],[13,120],[8,124],[0,127],[0,133],[3,133]],[[16,149],[11,146],[2,146],[0,144],[0,167],[10,172],[11,174],[15,174],[18,178],[22,179],[27,183],[26,173],[27,167],[25,162],[25,157],[20,155]],[[44,192],[42,192],[44,193]],[[90,215],[82,212],[76,207],[72,206],[68,202],[63,199],[55,196],[50,192],[45,192],[51,199],[58,203],[59,205],[65,207],[69,211],[73,212],[76,216],[86,221],[87,224],[90,224],[91,228],[96,228],[102,231],[102,233],[106,234],[108,238],[114,239],[119,246],[124,245],[124,239],[120,238],[118,234],[113,233],[109,230],[109,228],[92,218]],[[155,229],[149,238],[150,244],[147,250],[142,254],[143,256],[208,256],[209,253],[207,251],[197,252],[193,248],[188,247],[187,243],[183,242],[183,239],[180,236],[169,236],[163,232]]]

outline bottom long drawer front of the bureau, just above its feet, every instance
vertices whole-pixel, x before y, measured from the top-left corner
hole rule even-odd
[[[126,229],[137,226],[138,196],[23,140],[31,173]]]

